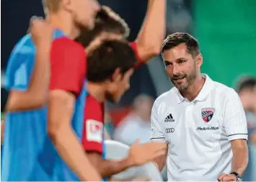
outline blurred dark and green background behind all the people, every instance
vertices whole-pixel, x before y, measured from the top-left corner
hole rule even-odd
[[[128,40],[135,40],[147,0],[100,0],[100,4],[110,6],[125,19],[131,29]],[[8,95],[6,63],[33,15],[43,17],[40,0],[1,0],[1,112]],[[189,32],[196,37],[204,58],[202,72],[239,93],[250,134],[250,163],[243,180],[256,181],[256,1],[167,0],[167,34],[173,32]],[[170,88],[161,57],[136,70],[131,89],[120,103],[107,103],[106,129],[110,137],[128,145],[136,138],[148,142],[151,106]]]

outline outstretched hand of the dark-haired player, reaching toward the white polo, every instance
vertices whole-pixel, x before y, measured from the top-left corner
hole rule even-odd
[[[139,144],[139,140],[131,146],[128,160],[132,165],[143,165],[149,161],[164,155],[167,151],[167,144],[162,142],[148,142],[143,145]]]

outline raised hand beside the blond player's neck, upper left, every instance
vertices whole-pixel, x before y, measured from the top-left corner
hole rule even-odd
[[[30,19],[30,33],[36,46],[51,45],[53,40],[53,27],[42,17],[32,17]]]

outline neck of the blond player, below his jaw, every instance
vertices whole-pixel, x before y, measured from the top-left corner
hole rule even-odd
[[[70,14],[58,12],[56,14],[49,14],[46,19],[54,28],[61,29],[72,40],[78,37],[79,29],[75,26]]]

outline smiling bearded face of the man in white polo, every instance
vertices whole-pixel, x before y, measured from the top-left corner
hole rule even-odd
[[[201,58],[201,55],[198,55]],[[187,52],[185,44],[164,51],[164,65],[170,81],[180,91],[186,91],[198,75],[201,63]]]

